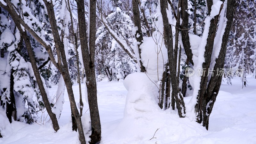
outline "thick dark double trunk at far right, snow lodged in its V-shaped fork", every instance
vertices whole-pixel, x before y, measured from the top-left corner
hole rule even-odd
[[[212,2],[208,2],[207,4],[211,4]],[[222,44],[221,44],[221,50],[219,53],[219,57],[216,59],[216,64],[214,65],[213,70],[217,70],[217,68],[223,68],[224,67],[224,60],[225,60],[225,55],[226,55],[226,49],[227,49],[227,43],[228,43],[228,36],[229,32],[233,23],[233,17],[234,17],[234,12],[236,10],[237,3],[235,0],[228,0],[227,2],[227,9],[226,9],[226,17],[228,19],[227,21],[227,26],[225,28],[224,35],[222,37]],[[209,7],[209,5],[208,5]],[[210,60],[211,60],[211,52],[212,52],[212,46],[213,45],[213,40],[212,36],[215,36],[216,33],[216,25],[214,24],[219,16],[217,18],[215,17],[213,22],[211,21],[210,29],[209,29],[209,35],[207,39],[207,44],[205,47],[205,62],[203,63],[203,68],[209,68],[210,65]],[[212,23],[214,26],[212,26]],[[210,57],[210,58],[207,58]],[[220,90],[220,84],[221,84],[221,79],[222,76],[217,76],[213,75],[208,83],[207,86],[207,79],[208,77],[202,76],[202,80],[200,83],[200,91],[198,92],[198,103],[196,104],[196,114],[197,114],[197,122],[200,124],[203,124],[203,126],[206,127],[208,130],[208,125],[209,125],[209,116],[212,112],[212,108],[214,105],[214,102],[216,100],[216,97],[218,95],[218,92]]]

